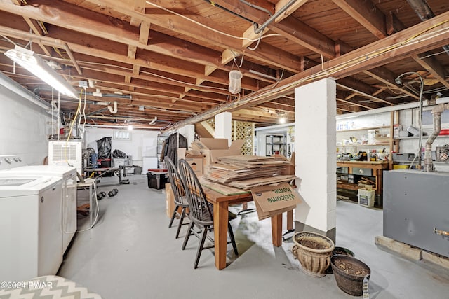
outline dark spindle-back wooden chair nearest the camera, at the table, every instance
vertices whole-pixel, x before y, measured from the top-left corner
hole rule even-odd
[[[188,217],[191,221],[189,225],[189,231],[185,235],[184,243],[182,244],[182,250],[185,249],[185,246],[187,245],[187,242],[189,241],[189,237],[191,235],[196,235],[196,237],[200,239],[194,263],[194,268],[196,269],[198,267],[201,252],[204,249],[210,249],[214,247],[214,245],[204,246],[206,237],[210,239],[211,242],[213,242],[213,239],[208,236],[208,232],[213,231],[213,204],[206,200],[206,195],[204,194],[204,190],[199,183],[198,177],[196,177],[194,170],[192,169],[192,167],[190,167],[189,163],[185,159],[180,159],[178,161],[178,170],[187,194],[187,202],[189,202],[190,211]],[[235,215],[234,218],[236,218]],[[229,219],[231,219],[231,217],[229,217]],[[201,228],[202,231],[196,232],[194,227],[195,225]],[[232,243],[234,253],[238,255],[239,252],[237,251],[234,232],[232,231],[232,226],[229,221],[227,223],[227,228],[229,237],[231,239],[230,243]],[[201,235],[199,235],[200,233]]]

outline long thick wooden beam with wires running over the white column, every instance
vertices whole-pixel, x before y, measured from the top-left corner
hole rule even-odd
[[[439,31],[438,34],[433,34],[437,30]],[[427,37],[417,36],[416,32],[425,32]],[[420,38],[419,43],[415,42],[417,38]],[[328,62],[324,62],[323,68],[327,71],[324,74],[321,65],[312,67],[307,71],[277,83],[276,94],[272,92],[273,87],[270,85],[239,99],[238,102],[229,102],[217,109],[211,109],[206,113],[201,113],[194,118],[188,118],[187,120],[183,120],[182,122],[171,126],[170,129],[167,130],[175,130],[177,127],[206,120],[215,114],[224,111],[235,111],[242,109],[243,107],[255,106],[271,101],[272,99],[290,94],[295,88],[318,80],[318,78],[321,79],[331,76],[333,78],[344,78],[360,71],[365,71],[366,69],[396,62],[405,57],[410,57],[416,52],[424,52],[429,48],[444,46],[448,39],[449,12],[445,12],[427,21],[421,22],[420,24],[404,29],[401,32],[387,36],[382,39],[382,41],[375,41],[367,46],[353,50],[350,53],[336,57]],[[341,67],[342,65],[345,67]]]

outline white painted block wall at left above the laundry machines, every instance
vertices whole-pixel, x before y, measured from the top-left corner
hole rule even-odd
[[[0,85],[0,155],[17,154],[27,165],[48,155],[51,115]]]

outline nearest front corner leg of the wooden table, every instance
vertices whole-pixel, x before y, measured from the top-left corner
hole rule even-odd
[[[215,267],[218,270],[226,267],[228,206],[228,202],[217,202],[213,205]]]

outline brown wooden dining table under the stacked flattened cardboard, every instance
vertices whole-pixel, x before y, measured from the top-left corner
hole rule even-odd
[[[201,181],[201,180],[200,180]],[[229,204],[242,204],[253,201],[253,195],[248,191],[239,194],[225,195],[201,183],[206,199],[213,204],[213,226],[215,242],[215,267],[218,270],[226,267],[227,253],[227,223]],[[210,186],[210,185],[209,185]],[[279,247],[282,245],[282,213],[272,216],[272,242]],[[287,211],[287,230],[293,229],[293,209]]]

